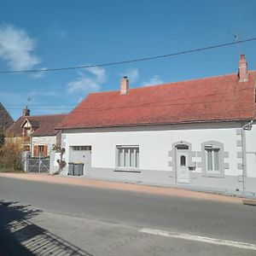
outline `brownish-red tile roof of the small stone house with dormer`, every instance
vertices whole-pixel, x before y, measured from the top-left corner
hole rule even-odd
[[[20,119],[15,122],[15,125],[10,128],[10,131],[17,137],[22,136],[21,125],[27,119],[35,129],[35,131],[32,132],[32,137],[55,136],[57,133],[55,126],[66,116],[67,114],[21,116]]]

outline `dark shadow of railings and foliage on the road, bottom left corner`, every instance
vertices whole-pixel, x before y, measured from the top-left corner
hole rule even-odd
[[[13,255],[85,255],[93,256],[75,247],[59,236],[29,221],[41,211],[18,202],[0,201],[0,252]]]

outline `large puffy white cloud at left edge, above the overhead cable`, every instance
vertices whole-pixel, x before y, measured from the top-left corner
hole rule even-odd
[[[31,69],[40,59],[33,54],[35,40],[26,31],[11,25],[0,25],[0,60],[12,70]]]

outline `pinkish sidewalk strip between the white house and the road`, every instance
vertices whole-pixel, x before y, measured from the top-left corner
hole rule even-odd
[[[23,180],[30,180],[35,182],[44,183],[59,183],[68,185],[79,185],[85,187],[94,187],[100,189],[117,189],[125,191],[133,191],[139,193],[148,193],[154,195],[167,195],[175,197],[186,197],[194,198],[198,200],[209,200],[209,201],[223,201],[230,203],[242,203],[242,199],[235,196],[229,195],[217,195],[212,193],[197,192],[187,189],[177,189],[177,188],[163,188],[157,186],[149,186],[143,184],[133,184],[133,183],[119,183],[112,181],[102,181],[96,179],[90,179],[86,177],[63,177],[63,176],[53,176],[48,173],[0,173],[0,177],[11,177]]]

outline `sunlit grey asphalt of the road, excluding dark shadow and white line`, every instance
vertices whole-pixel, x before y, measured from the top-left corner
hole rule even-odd
[[[32,218],[32,224],[72,241],[86,252],[93,252],[92,255],[125,255],[125,252],[127,255],[205,255],[206,252],[207,255],[256,255],[255,250],[138,232],[163,230],[255,244],[256,207],[7,177],[0,178],[0,197],[3,202],[18,202],[42,211]],[[85,236],[87,243],[84,243]],[[139,237],[140,242],[132,237]],[[98,251],[96,239],[97,247],[102,244]],[[121,246],[117,247],[117,242]],[[113,248],[115,253],[111,251]]]

